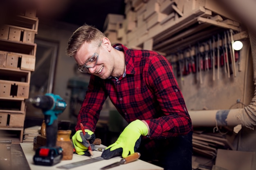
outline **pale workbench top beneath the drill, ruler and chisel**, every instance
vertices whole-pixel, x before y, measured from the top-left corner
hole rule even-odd
[[[33,156],[35,155],[35,151],[33,150],[33,144],[32,143],[20,143],[20,147],[22,148],[22,151],[25,155],[25,158],[27,160],[30,170],[63,170],[63,169],[56,168],[56,167],[62,166],[62,165],[68,164],[68,163],[73,163],[73,162],[77,162],[77,161],[91,159],[94,157],[99,157],[99,156],[101,156],[101,153],[102,153],[99,151],[93,151],[92,157],[74,154],[72,160],[63,160],[54,166],[38,166],[38,165],[34,165],[34,162],[33,162]],[[102,160],[102,161],[90,163],[90,164],[87,164],[84,166],[72,168],[70,170],[73,170],[73,169],[75,169],[75,170],[85,170],[85,169],[100,170],[100,168],[110,165],[111,163],[118,162],[120,160],[121,160],[121,157],[114,157],[114,158],[111,158],[108,160]],[[145,161],[142,161],[139,159],[137,161],[133,161],[133,162],[130,162],[127,164],[123,164],[123,165],[111,168],[110,170],[120,170],[120,169],[122,169],[122,170],[164,170],[164,168],[162,168],[162,167],[155,166],[151,163],[148,163],[148,162],[145,162]],[[29,169],[26,169],[26,170],[29,170]]]

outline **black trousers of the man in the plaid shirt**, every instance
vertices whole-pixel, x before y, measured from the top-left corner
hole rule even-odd
[[[192,170],[192,134],[191,131],[184,136],[155,139],[152,150],[146,149],[147,140],[142,140],[137,152],[141,153],[141,160],[161,166],[164,170]]]

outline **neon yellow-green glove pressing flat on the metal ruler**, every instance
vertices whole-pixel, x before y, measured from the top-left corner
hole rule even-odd
[[[146,136],[147,134],[148,127],[146,124],[140,120],[132,121],[126,126],[117,141],[103,151],[101,157],[110,159],[122,152],[122,157],[125,158],[129,154],[133,154],[137,148],[139,148],[141,135]]]

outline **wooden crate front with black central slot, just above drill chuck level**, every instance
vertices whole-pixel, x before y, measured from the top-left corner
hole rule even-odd
[[[10,83],[0,80],[0,97],[29,97],[29,84]]]

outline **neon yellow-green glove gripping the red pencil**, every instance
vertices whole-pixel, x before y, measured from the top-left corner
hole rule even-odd
[[[95,134],[91,130],[85,130],[85,135],[83,135],[82,130],[77,130],[72,136],[72,141],[78,155],[90,156],[88,147],[94,142],[94,140]]]

